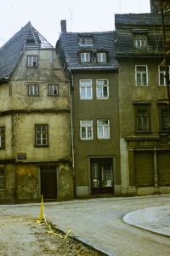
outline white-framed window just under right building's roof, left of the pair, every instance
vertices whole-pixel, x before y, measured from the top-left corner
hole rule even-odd
[[[145,70],[138,70],[139,67],[145,67]],[[148,86],[148,66],[135,65],[135,84],[136,86]]]

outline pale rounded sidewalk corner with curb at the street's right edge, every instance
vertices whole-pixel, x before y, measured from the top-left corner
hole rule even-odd
[[[170,205],[129,212],[123,217],[123,221],[144,230],[170,236]]]

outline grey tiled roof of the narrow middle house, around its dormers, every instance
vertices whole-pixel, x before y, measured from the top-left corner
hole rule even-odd
[[[80,37],[93,37],[93,44],[79,44]],[[90,63],[81,63],[79,51],[89,49],[93,55],[99,49],[105,49],[108,52],[108,61],[97,63],[95,58]],[[64,65],[66,62],[68,69],[110,69],[117,68],[115,55],[115,32],[62,32],[56,44],[59,59]]]

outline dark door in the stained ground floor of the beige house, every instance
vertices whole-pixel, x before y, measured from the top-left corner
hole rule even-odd
[[[41,167],[41,195],[44,199],[57,199],[57,172],[55,167]]]

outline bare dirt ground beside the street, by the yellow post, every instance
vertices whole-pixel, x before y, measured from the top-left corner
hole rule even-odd
[[[54,233],[64,234],[51,224]],[[48,231],[48,225],[38,224],[27,216],[1,216],[0,252],[3,256],[100,256],[92,247],[72,237],[65,239],[54,236]]]

